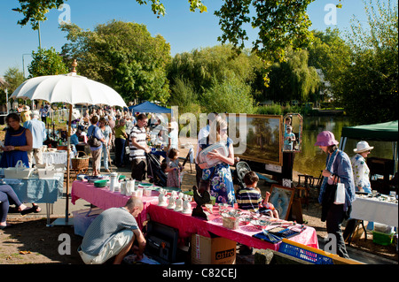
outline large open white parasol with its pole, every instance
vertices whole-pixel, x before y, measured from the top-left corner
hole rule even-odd
[[[68,74],[35,77],[24,81],[11,95],[13,99],[44,100],[49,103],[68,103],[68,150],[66,163],[66,218],[63,225],[70,225],[68,220],[69,165],[71,145],[71,122],[73,105],[110,105],[127,107],[126,103],[113,88],[76,74],[77,63],[74,60],[73,71]]]

